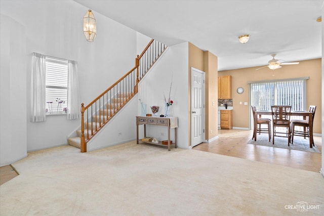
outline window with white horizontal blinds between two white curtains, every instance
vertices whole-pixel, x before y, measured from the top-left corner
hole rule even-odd
[[[46,113],[66,113],[68,91],[68,61],[46,57]]]

